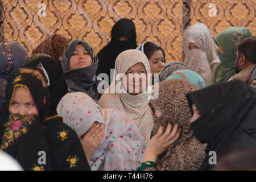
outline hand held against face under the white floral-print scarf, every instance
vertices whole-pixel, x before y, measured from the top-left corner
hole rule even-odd
[[[82,148],[84,148],[88,163],[90,162],[90,158],[98,148],[98,144],[100,144],[101,140],[104,138],[104,131],[105,124],[97,123],[94,125],[93,123],[92,127],[90,127],[90,129],[84,135],[84,138],[80,138]]]

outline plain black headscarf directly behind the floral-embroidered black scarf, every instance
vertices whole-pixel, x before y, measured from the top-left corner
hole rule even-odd
[[[43,68],[45,75],[48,77],[48,90],[50,95],[49,110],[50,113],[55,115],[56,107],[59,104],[60,99],[68,93],[63,69],[59,61],[49,56],[37,57],[30,63],[31,67],[39,67],[39,65]]]

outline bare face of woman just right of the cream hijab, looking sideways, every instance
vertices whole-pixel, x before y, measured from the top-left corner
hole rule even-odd
[[[152,76],[154,77],[154,74],[159,73],[164,67],[163,52],[160,49],[155,51],[148,61],[150,63]]]

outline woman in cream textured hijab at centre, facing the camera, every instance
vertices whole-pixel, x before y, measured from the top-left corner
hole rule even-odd
[[[144,142],[150,140],[154,126],[148,105],[150,75],[150,64],[143,52],[137,49],[123,51],[115,60],[115,80],[98,102],[102,109],[113,108],[133,119]]]

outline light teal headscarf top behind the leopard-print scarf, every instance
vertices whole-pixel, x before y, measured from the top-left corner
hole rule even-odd
[[[197,88],[199,89],[205,88],[204,79],[198,73],[188,69],[175,71],[174,73],[172,73],[172,75],[166,78],[166,80],[171,80],[171,79],[187,80],[191,82],[191,84],[196,85]]]

